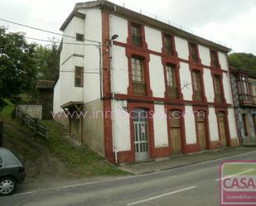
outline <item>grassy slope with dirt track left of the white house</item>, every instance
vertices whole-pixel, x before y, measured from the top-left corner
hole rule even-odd
[[[45,170],[48,175],[60,170],[61,175],[65,175],[65,170],[65,173],[79,177],[127,175],[91,151],[88,146],[74,146],[64,137],[65,128],[52,120],[41,121],[50,129],[49,141],[35,137],[19,120],[12,119],[13,109],[13,105],[9,104],[0,112],[0,118],[5,126],[4,146],[26,160],[27,166],[33,167],[31,170],[29,168],[28,173],[31,174],[28,175],[43,174]],[[50,167],[53,167],[52,170]]]

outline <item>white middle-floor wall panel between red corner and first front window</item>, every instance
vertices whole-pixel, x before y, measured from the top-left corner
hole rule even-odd
[[[128,93],[128,58],[125,55],[125,48],[122,46],[112,47],[112,69],[113,69],[113,90],[114,93]]]

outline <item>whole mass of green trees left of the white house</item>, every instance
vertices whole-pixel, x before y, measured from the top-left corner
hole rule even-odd
[[[38,79],[55,80],[59,71],[56,43],[41,46],[28,43],[22,32],[8,32],[0,26],[0,111],[5,99],[19,103],[21,93],[37,97]]]

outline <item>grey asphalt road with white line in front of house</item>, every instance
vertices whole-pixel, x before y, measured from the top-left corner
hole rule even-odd
[[[1,206],[215,206],[219,165],[255,160],[256,151],[147,175],[42,189],[0,198]]]

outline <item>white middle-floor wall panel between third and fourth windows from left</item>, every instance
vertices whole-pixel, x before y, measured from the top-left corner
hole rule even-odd
[[[205,84],[205,96],[207,102],[215,102],[215,90],[213,85],[212,76],[210,74],[210,69],[204,69],[204,84]]]

